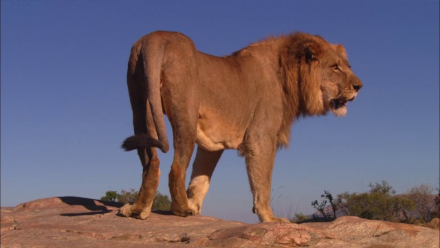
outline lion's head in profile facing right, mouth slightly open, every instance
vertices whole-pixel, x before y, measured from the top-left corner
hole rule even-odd
[[[347,103],[356,98],[362,82],[351,71],[344,47],[303,33],[295,34],[289,42],[287,54],[295,54],[291,57],[296,63],[292,64],[299,67],[298,76],[292,78],[299,79],[301,114],[320,115],[329,111],[336,116],[347,114]]]

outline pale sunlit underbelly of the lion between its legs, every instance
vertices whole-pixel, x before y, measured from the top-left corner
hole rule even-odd
[[[199,118],[196,136],[196,143],[199,147],[207,151],[239,148],[243,142],[244,132],[236,125],[221,122]]]

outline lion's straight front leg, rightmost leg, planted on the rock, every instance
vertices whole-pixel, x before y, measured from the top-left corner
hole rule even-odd
[[[250,188],[254,196],[254,213],[259,216],[261,222],[289,222],[287,218],[276,218],[270,208],[272,169],[276,154],[273,139],[259,138],[258,142],[248,143],[246,146],[244,153]]]

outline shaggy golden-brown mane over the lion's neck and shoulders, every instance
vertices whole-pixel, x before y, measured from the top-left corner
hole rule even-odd
[[[283,123],[278,133],[278,148],[288,147],[290,127],[297,118],[323,115],[320,94],[320,74],[316,67],[317,54],[322,47],[307,50],[307,44],[327,43],[319,36],[296,32],[279,37],[267,37],[225,57],[252,56],[262,51],[273,51],[278,58],[279,83],[283,86]],[[342,48],[343,49],[343,48]],[[307,54],[309,51],[309,54]],[[303,83],[307,82],[307,83]]]

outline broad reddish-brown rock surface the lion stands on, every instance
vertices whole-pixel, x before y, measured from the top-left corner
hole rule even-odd
[[[117,216],[120,203],[78,197],[1,208],[1,247],[439,247],[439,230],[344,216],[331,223],[246,224],[154,212]]]

